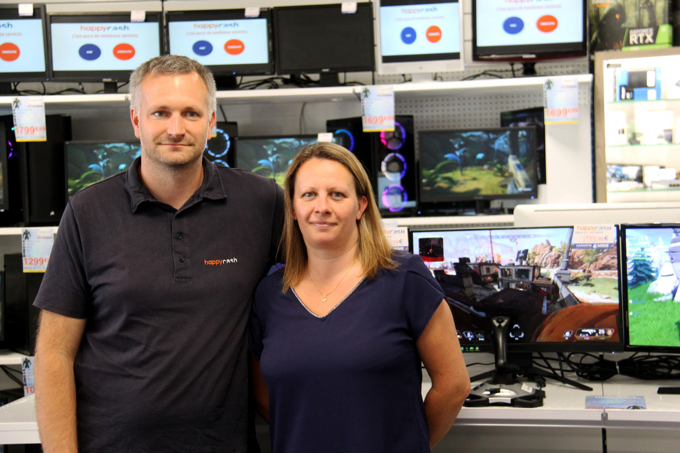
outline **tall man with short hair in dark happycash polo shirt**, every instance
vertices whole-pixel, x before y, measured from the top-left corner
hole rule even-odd
[[[71,198],[35,305],[45,452],[245,452],[245,325],[280,237],[273,179],[202,157],[215,81],[182,56],[130,82],[141,158]]]

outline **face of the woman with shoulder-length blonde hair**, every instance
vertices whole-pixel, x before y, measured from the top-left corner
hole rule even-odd
[[[295,176],[293,219],[307,248],[342,248],[358,240],[356,221],[366,209],[354,178],[335,160],[309,159]]]

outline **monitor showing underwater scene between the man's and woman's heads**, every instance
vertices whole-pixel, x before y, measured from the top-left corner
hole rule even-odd
[[[318,141],[318,135],[237,137],[236,166],[276,179],[283,187],[286,172],[297,153]],[[339,141],[336,137],[333,141]]]

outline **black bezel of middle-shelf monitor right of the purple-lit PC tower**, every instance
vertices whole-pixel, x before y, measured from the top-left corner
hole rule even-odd
[[[534,126],[530,127],[488,127],[488,128],[464,128],[464,129],[443,129],[443,130],[421,130],[418,132],[418,150],[419,150],[419,160],[418,160],[418,205],[424,207],[425,209],[438,209],[450,207],[452,203],[457,202],[480,202],[489,200],[530,200],[538,196],[538,175],[537,171],[534,169],[532,172],[532,191],[524,192],[521,194],[481,194],[477,196],[469,194],[460,194],[447,196],[445,198],[423,198],[423,166],[422,166],[422,156],[423,152],[423,138],[428,134],[446,134],[446,133],[460,133],[460,132],[500,132],[507,130],[532,130],[534,132],[534,164],[536,164],[538,155],[536,150],[536,136],[537,130]]]

